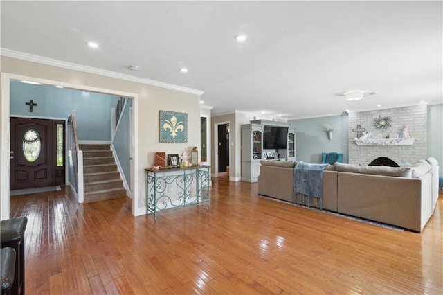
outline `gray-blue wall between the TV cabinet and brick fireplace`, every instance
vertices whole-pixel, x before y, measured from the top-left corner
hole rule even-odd
[[[290,120],[296,128],[296,159],[307,163],[321,163],[323,152],[340,152],[344,155],[343,163],[347,163],[348,120],[347,114]],[[327,138],[323,125],[334,128],[332,139]]]

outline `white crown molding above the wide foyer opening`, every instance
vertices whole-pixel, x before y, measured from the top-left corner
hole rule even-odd
[[[6,48],[0,48],[0,55],[6,56],[6,57],[17,58],[19,60],[26,60],[28,62],[37,62],[39,64],[46,64],[48,66],[57,66],[57,67],[60,67],[63,69],[69,69],[69,70],[73,70],[73,71],[82,71],[85,73],[92,73],[95,75],[103,75],[103,76],[106,76],[109,78],[116,78],[116,79],[130,81],[130,82],[147,84],[150,86],[172,89],[172,90],[176,90],[176,91],[196,94],[197,96],[201,96],[204,93],[204,91],[200,91],[197,89],[192,89],[192,88],[183,87],[183,86],[174,85],[174,84],[168,84],[168,83],[145,79],[145,78],[138,78],[138,77],[134,77],[132,75],[125,75],[125,74],[116,73],[113,71],[106,71],[103,69],[93,68],[92,66],[84,66],[82,64],[74,64],[72,62],[64,62],[62,60],[54,60],[52,58],[42,57],[42,56],[38,56],[38,55],[32,55],[29,53],[23,53],[23,52],[19,52],[19,51],[13,51],[13,50],[6,49]]]

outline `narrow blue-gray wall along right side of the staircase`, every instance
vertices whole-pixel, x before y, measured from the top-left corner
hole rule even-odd
[[[130,123],[130,108],[132,107],[132,99],[127,99],[127,104],[123,113],[120,117],[120,123],[118,129],[116,130],[116,136],[114,137],[114,151],[120,162],[120,166],[123,170],[123,175],[125,176],[127,184],[131,185],[131,134],[129,130],[131,129]]]

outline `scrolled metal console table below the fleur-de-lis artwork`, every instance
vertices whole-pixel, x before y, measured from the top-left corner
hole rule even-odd
[[[210,166],[169,169],[145,169],[146,213],[185,207],[210,205]]]

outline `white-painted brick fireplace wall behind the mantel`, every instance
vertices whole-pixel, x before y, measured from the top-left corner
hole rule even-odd
[[[427,157],[427,105],[417,105],[415,107],[400,107],[397,109],[381,109],[377,111],[363,111],[349,114],[348,134],[349,142],[349,163],[366,165],[378,157],[388,157],[399,166],[405,163],[414,163],[419,159]],[[373,127],[374,118],[392,117],[391,126],[381,131]],[[371,138],[386,138],[389,134],[401,132],[404,125],[408,127],[409,135],[415,138],[413,145],[356,145],[354,138],[357,125],[371,132]]]

